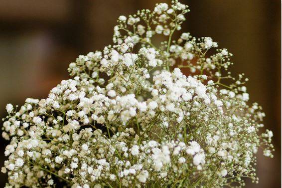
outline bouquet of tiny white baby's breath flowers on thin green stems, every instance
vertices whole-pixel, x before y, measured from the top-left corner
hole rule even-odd
[[[5,188],[258,183],[255,154],[273,157],[273,133],[259,134],[265,114],[247,104],[247,79],[231,76],[227,49],[208,56],[218,46],[210,37],[173,39],[188,11],[173,0],[120,16],[115,45],[80,55],[48,98],[8,104]]]

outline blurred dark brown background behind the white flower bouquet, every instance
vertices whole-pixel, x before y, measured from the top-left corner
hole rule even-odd
[[[258,155],[260,183],[281,187],[281,1],[180,0],[190,6],[182,32],[210,36],[234,54],[233,75],[244,72],[251,102],[267,115],[274,132],[274,159]],[[68,79],[67,67],[80,54],[112,44],[119,15],[152,9],[168,0],[0,0],[0,116],[7,103],[47,97]],[[0,139],[0,166],[7,142]],[[0,176],[4,187],[5,176]]]

